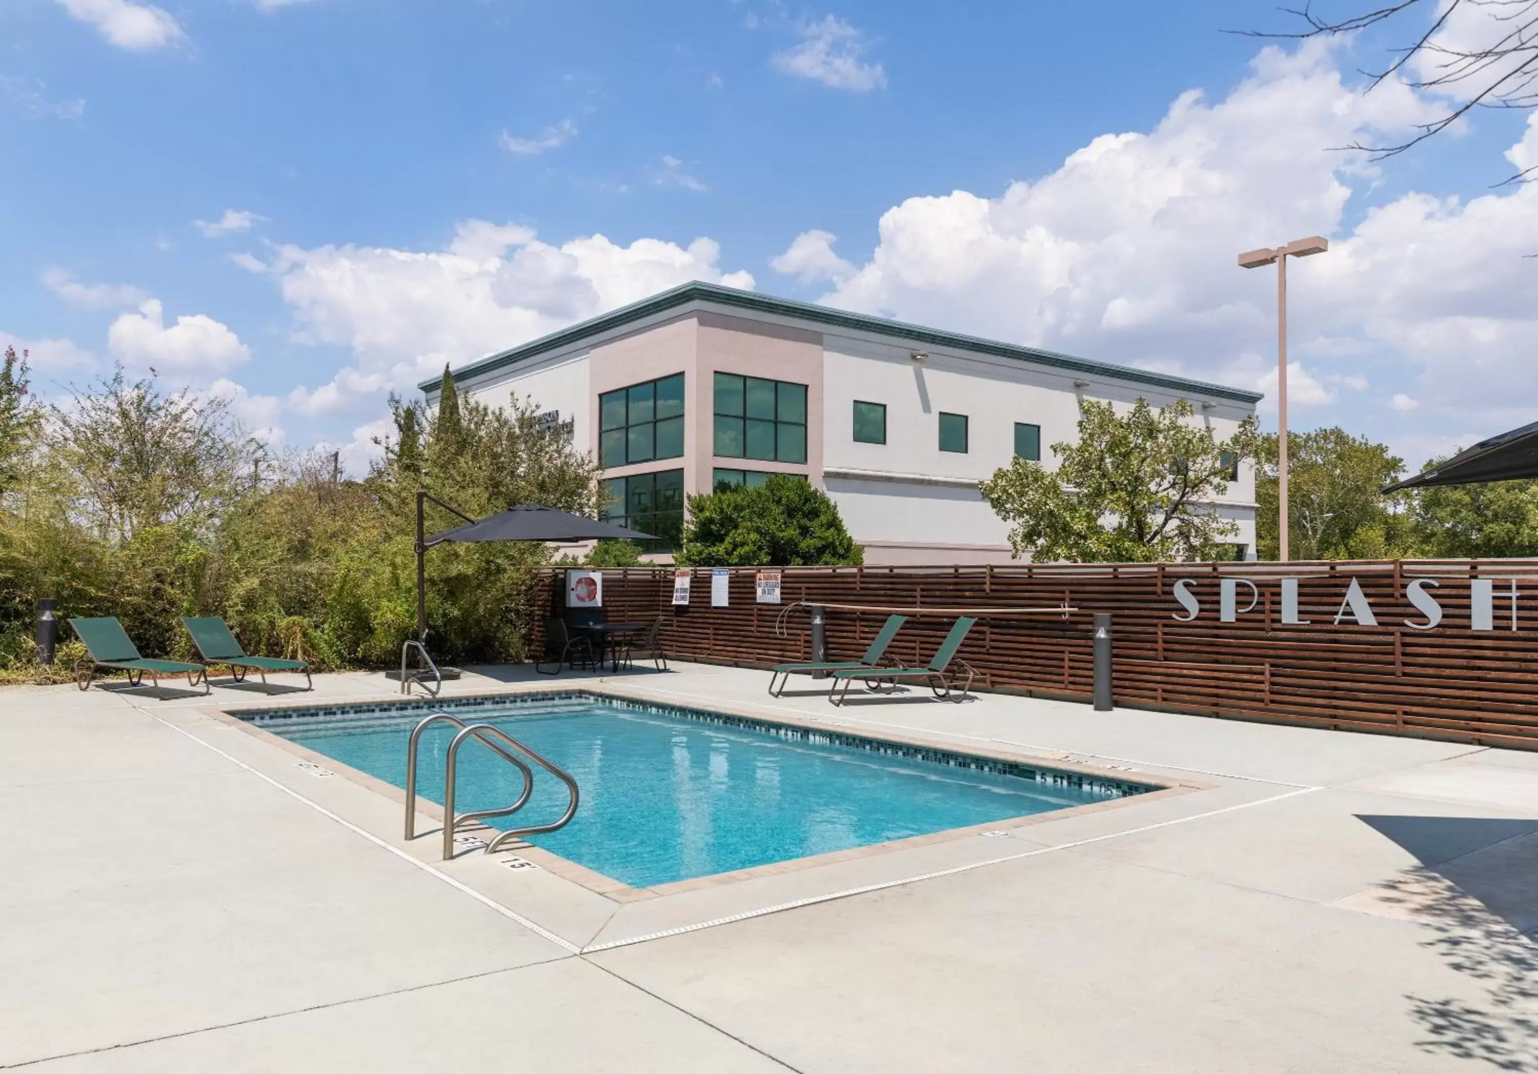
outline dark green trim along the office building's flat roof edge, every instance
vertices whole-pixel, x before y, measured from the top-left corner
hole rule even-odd
[[[1081,372],[1092,377],[1107,377],[1114,380],[1130,380],[1141,385],[1152,385],[1155,388],[1164,388],[1175,392],[1193,392],[1198,395],[1215,395],[1218,399],[1232,399],[1238,403],[1258,403],[1261,400],[1260,392],[1244,391],[1241,388],[1227,388],[1224,385],[1209,385],[1201,380],[1187,380],[1186,377],[1170,377],[1163,372],[1150,372],[1147,369],[1134,369],[1130,366],[1110,365],[1107,362],[1090,362],[1089,359],[1075,359],[1070,354],[1057,354],[1055,351],[1038,351],[1032,346],[1015,346],[1014,343],[1000,343],[997,340],[984,340],[977,335],[963,335],[960,332],[943,332],[935,328],[923,328],[920,325],[904,325],[898,320],[887,320],[884,317],[869,317],[866,314],[851,314],[843,309],[832,309],[829,306],[817,306],[811,302],[794,302],[791,299],[775,299],[771,295],[757,294],[754,291],[738,291],[737,288],[723,288],[715,283],[700,283],[698,280],[692,283],[684,283],[681,286],[672,288],[671,291],[663,291],[654,294],[649,299],[641,299],[640,302],[632,302],[629,306],[620,306],[598,317],[581,322],[580,325],[572,325],[571,328],[563,328],[558,332],[551,332],[529,343],[523,343],[509,351],[501,351],[492,354],[491,357],[481,359],[480,362],[472,362],[468,366],[454,369],[452,375],[455,383],[463,380],[471,380],[488,372],[494,372],[504,366],[517,365],[528,359],[538,357],[548,351],[555,351],[563,346],[571,346],[580,343],[589,335],[597,335],[600,332],[608,332],[615,328],[624,328],[632,322],[652,317],[655,314],[667,312],[678,306],[686,306],[691,302],[709,302],[717,306],[732,306],[735,309],[747,309],[761,314],[778,314],[781,317],[798,317],[801,320],[809,320],[818,325],[826,325],[829,328],[844,328],[860,332],[875,332],[880,335],[891,335],[895,339],[906,340],[909,343],[923,343],[926,346],[954,348],[960,351],[974,351],[977,354],[990,354],[1000,359],[1014,359],[1017,362],[1029,362],[1038,366],[1049,366],[1054,369],[1063,369],[1067,372]],[[441,383],[441,377],[434,377],[432,380],[423,380],[417,388],[423,392],[432,394]]]

